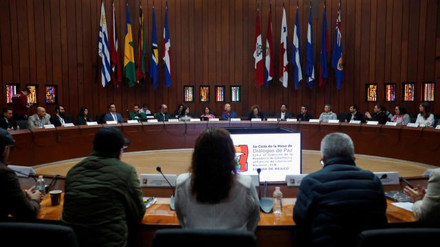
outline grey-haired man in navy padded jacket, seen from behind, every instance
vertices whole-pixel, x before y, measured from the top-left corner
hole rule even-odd
[[[354,246],[360,231],[386,224],[380,179],[354,163],[347,134],[321,142],[323,168],[303,178],[294,206],[298,246]]]

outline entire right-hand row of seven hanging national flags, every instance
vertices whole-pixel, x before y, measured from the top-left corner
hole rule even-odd
[[[342,35],[341,35],[341,16],[340,16],[340,2],[338,6],[338,15],[336,17],[336,29],[335,29],[335,41],[333,45],[333,55],[331,57],[331,65],[335,70],[336,75],[336,89],[341,88],[343,80],[343,67],[342,67]],[[265,66],[263,66],[263,44],[261,38],[261,23],[260,23],[260,11],[257,7],[256,10],[256,29],[255,29],[255,85],[269,86],[270,81],[274,79],[274,52],[272,41],[272,5],[270,5],[268,20],[267,20],[267,39],[265,46]],[[306,44],[306,64],[305,64],[305,79],[309,88],[313,88],[315,84],[315,65],[314,65],[314,40],[312,32],[312,12],[311,5],[309,8],[309,23],[307,25],[307,44]],[[279,78],[278,80],[283,84],[285,88],[288,85],[289,73],[287,59],[287,20],[286,12],[283,5],[283,17],[281,20],[281,38],[280,38],[280,65],[279,65]],[[319,63],[319,86],[325,86],[325,82],[329,79],[329,73],[327,68],[327,54],[329,53],[329,31],[327,28],[327,14],[326,6],[324,5],[324,12],[322,14],[322,34],[321,34],[321,46],[320,46],[320,63]],[[296,19],[294,25],[294,38],[292,45],[292,64],[294,66],[294,87],[295,90],[299,87],[299,82],[303,80],[303,70],[301,67],[301,53],[300,53],[300,22],[299,22],[299,7],[296,6]],[[263,71],[264,68],[264,71]]]

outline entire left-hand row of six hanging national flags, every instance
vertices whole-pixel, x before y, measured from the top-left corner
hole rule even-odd
[[[122,80],[122,72],[120,66],[120,51],[118,49],[118,38],[116,34],[116,19],[115,19],[115,5],[111,2],[111,21],[112,24],[110,32],[107,32],[107,19],[104,11],[104,1],[101,1],[101,14],[99,25],[99,38],[98,38],[98,56],[101,58],[101,83],[102,86],[106,86],[107,83],[113,82],[115,86],[119,86],[119,82]],[[134,44],[133,44],[133,32],[131,31],[131,20],[129,12],[129,3],[126,3],[126,25],[125,25],[125,43],[124,43],[124,75],[129,82],[129,86],[135,86],[146,80],[146,40],[145,40],[145,26],[144,15],[142,12],[141,1],[139,3],[139,35],[138,35],[138,59],[137,69],[135,68],[135,56],[134,56]],[[156,15],[153,5],[152,14],[152,29],[151,29],[151,59],[150,59],[150,73],[149,76],[153,81],[153,89],[158,86],[157,73],[159,71],[159,52],[157,47],[157,34],[156,34]],[[164,47],[162,59],[164,60],[164,78],[165,87],[171,85],[171,44],[170,33],[168,29],[168,4],[165,9],[165,22],[164,22]]]

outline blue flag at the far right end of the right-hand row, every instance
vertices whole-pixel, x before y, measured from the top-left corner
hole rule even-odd
[[[331,57],[331,65],[335,68],[336,75],[336,89],[341,89],[343,80],[342,67],[342,35],[341,35],[341,3],[339,3],[338,16],[336,18],[336,34],[335,43],[333,45],[333,56]]]

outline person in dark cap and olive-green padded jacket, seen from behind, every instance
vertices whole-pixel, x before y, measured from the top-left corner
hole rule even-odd
[[[91,154],[67,172],[61,222],[79,246],[126,246],[128,229],[144,217],[136,169],[120,160],[127,144],[118,128],[100,128]]]

